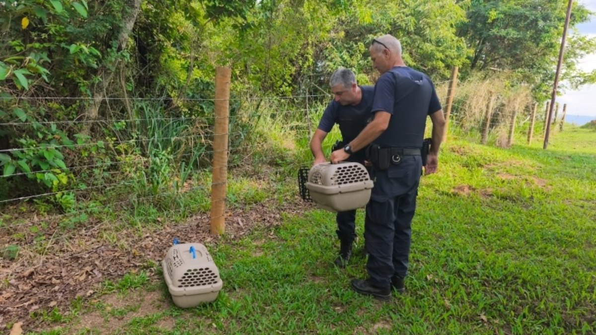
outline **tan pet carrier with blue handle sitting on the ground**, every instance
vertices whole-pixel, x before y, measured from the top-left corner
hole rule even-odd
[[[224,283],[207,248],[200,243],[174,243],[162,262],[173,302],[188,308],[215,300]]]

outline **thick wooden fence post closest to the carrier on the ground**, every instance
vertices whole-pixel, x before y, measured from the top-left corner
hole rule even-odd
[[[211,234],[225,232],[225,197],[228,183],[229,85],[231,70],[215,70],[215,134],[211,182]]]

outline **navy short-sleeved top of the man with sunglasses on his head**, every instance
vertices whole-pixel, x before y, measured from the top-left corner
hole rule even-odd
[[[391,119],[374,143],[383,147],[422,147],[426,117],[440,109],[429,76],[409,67],[393,67],[375,85],[371,112],[386,111]]]

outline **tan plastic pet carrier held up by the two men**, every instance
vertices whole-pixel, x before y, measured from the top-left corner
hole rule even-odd
[[[344,212],[366,206],[373,181],[360,163],[327,163],[311,168],[306,188],[317,206]]]

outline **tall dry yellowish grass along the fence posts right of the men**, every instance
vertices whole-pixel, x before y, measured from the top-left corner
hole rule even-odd
[[[450,82],[457,83],[457,70],[454,74]],[[449,138],[472,139],[504,148],[514,142],[532,144],[544,139],[549,103],[544,106],[533,101],[529,88],[511,88],[499,76],[468,79],[455,85],[451,95],[449,85],[441,84],[437,85],[437,93],[445,97],[443,109],[451,110]],[[551,134],[564,130],[567,105],[563,105],[562,113],[559,111],[557,103],[551,117]]]

